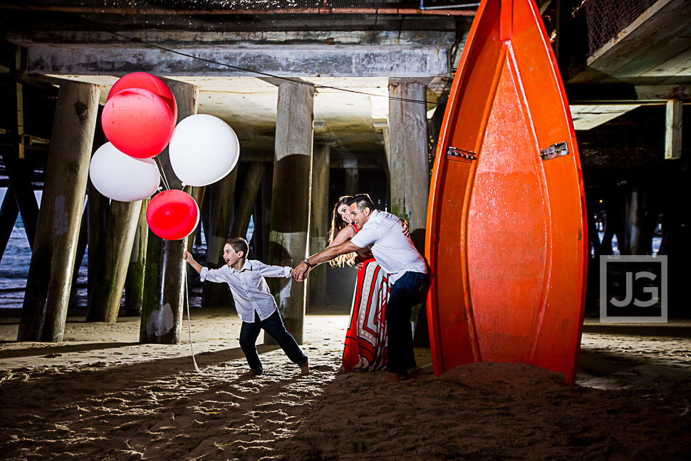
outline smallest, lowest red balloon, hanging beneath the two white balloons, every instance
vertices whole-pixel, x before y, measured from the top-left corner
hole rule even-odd
[[[199,207],[197,202],[182,190],[164,190],[149,202],[146,222],[151,231],[162,239],[184,239],[197,229]]]

